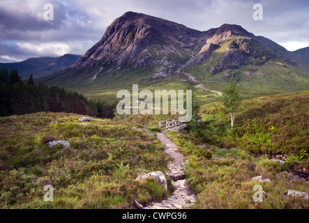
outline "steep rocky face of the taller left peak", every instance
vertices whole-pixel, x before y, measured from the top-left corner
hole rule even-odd
[[[129,12],[116,19],[73,68],[110,64],[119,68],[126,63],[136,68],[149,61],[174,68],[179,63],[166,56],[185,61],[202,38],[202,32],[181,24]]]

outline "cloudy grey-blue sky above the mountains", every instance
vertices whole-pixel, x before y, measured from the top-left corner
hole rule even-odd
[[[47,3],[54,20],[45,20]],[[255,3],[263,6],[263,20],[253,19]],[[291,51],[309,46],[308,0],[0,0],[0,62],[82,55],[127,11],[199,31],[239,24]]]

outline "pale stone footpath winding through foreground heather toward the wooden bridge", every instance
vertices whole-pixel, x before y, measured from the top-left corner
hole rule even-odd
[[[196,195],[192,194],[186,184],[184,169],[188,160],[183,162],[184,158],[177,146],[170,141],[165,134],[157,133],[158,139],[165,145],[165,153],[172,157],[172,162],[168,164],[168,171],[165,173],[172,179],[172,184],[176,188],[174,194],[164,201],[151,203],[144,209],[182,209],[195,203]]]

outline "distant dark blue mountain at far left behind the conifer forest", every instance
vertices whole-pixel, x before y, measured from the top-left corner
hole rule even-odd
[[[38,57],[27,59],[17,63],[0,63],[1,68],[7,68],[8,70],[18,70],[22,79],[27,79],[32,73],[33,77],[45,77],[55,72],[59,72],[79,59],[79,55],[65,54],[59,57]]]

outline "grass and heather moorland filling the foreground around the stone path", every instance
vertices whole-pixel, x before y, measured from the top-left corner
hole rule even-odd
[[[285,172],[309,169],[308,99],[303,91],[244,100],[234,132],[214,102],[202,107],[197,134],[167,132],[190,162],[186,179],[198,196],[193,208],[309,208],[306,200],[284,196],[285,190],[309,192],[304,179],[291,180]],[[165,194],[153,180],[135,181],[167,169],[163,146],[143,129],[158,130],[168,116],[86,124],[80,117],[41,112],[0,118],[0,208],[133,208],[133,199],[145,204],[169,196],[172,187]],[[47,142],[55,139],[69,141],[70,148],[50,148]],[[285,165],[269,161],[278,153],[287,156]],[[271,183],[251,180],[259,175]],[[55,188],[54,202],[43,200],[46,184]],[[263,202],[253,200],[257,184],[266,192]]]

